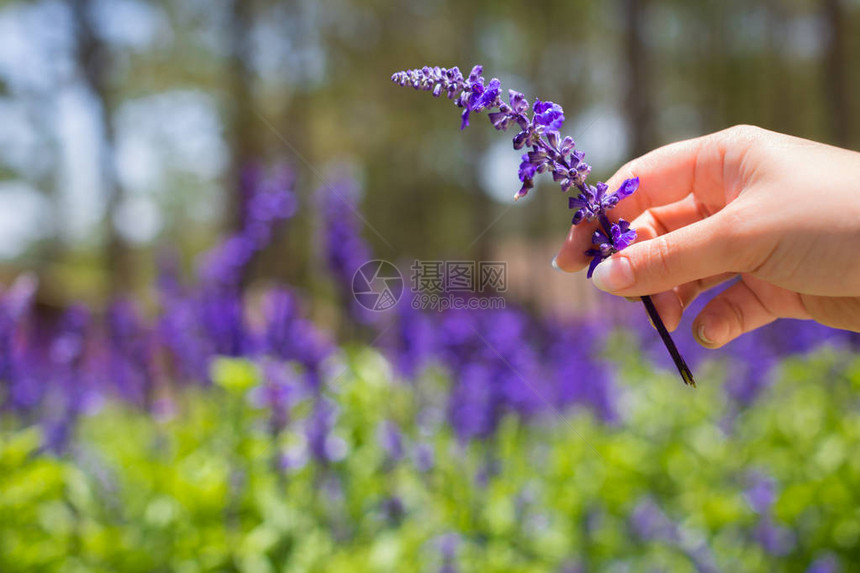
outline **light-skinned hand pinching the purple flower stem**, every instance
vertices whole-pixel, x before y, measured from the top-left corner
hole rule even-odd
[[[860,153],[751,126],[681,141],[622,167],[639,190],[610,211],[636,243],[601,263],[598,288],[654,295],[666,327],[740,275],[693,322],[719,348],[777,318],[860,332]],[[595,226],[571,228],[556,264],[574,272]]]

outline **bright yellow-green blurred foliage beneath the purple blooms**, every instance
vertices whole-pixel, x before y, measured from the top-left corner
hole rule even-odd
[[[825,552],[860,561],[860,359],[824,350],[790,359],[753,408],[733,411],[719,371],[698,390],[644,363],[624,367],[623,425],[585,414],[508,418],[486,442],[460,444],[428,422],[445,376],[412,387],[386,361],[352,349],[329,381],[346,455],[283,469],[304,441],[311,398],[283,431],[250,399],[256,366],[220,360],[214,389],[176,396],[159,420],[110,404],[84,419],[64,457],[40,452],[38,428],[0,426],[0,571],[424,572],[456,532],[460,571],[804,571]],[[428,408],[430,410],[428,410]],[[419,414],[424,417],[419,423]],[[432,417],[432,416],[431,416]],[[377,427],[404,429],[387,457]],[[417,469],[417,444],[435,464]],[[765,553],[744,497],[750,471],[772,476],[773,519],[794,549]],[[403,512],[386,510],[391,498]],[[645,540],[630,516],[656,502],[681,541]]]

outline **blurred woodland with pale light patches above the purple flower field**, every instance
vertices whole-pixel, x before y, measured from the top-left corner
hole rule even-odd
[[[190,264],[235,229],[243,165],[291,165],[305,200],[339,164],[360,182],[380,257],[511,259],[532,265],[512,270],[533,279],[513,279],[518,298],[564,308],[570,297],[552,295],[564,289],[542,284],[562,280],[547,273],[569,218],[554,186],[509,212],[510,142],[485,125],[455,133],[450,106],[390,75],[482,63],[503,86],[560,102],[595,178],[737,123],[856,149],[858,6],[4,1],[3,274],[34,270],[50,304],[99,304],[147,285],[159,247]],[[314,284],[308,212],[254,278]]]

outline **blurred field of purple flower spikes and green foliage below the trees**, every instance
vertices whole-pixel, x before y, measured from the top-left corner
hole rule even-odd
[[[850,571],[860,338],[781,322],[723,352],[644,317],[408,301],[335,336],[241,282],[298,210],[249,172],[248,221],[152,304],[0,306],[0,571]],[[344,182],[348,186],[350,183]],[[370,256],[323,200],[342,293]],[[343,202],[342,209],[337,206]],[[599,317],[599,318],[598,318]]]

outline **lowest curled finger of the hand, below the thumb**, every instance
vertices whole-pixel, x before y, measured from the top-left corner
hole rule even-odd
[[[693,321],[693,335],[703,346],[719,348],[777,318],[811,317],[797,293],[744,275],[705,305]]]

